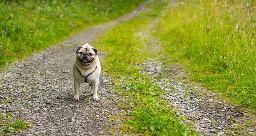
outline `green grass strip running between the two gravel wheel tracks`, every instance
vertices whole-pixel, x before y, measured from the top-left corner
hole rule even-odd
[[[124,132],[158,136],[196,135],[181,123],[170,102],[162,97],[163,90],[154,83],[158,78],[142,74],[144,69],[137,65],[160,54],[150,51],[153,46],[145,31],[166,5],[168,2],[164,0],[149,4],[137,17],[103,33],[94,45],[108,53],[101,62],[103,72],[113,77],[119,95],[128,96],[124,97],[128,102],[121,103],[121,107],[127,110],[122,126]]]

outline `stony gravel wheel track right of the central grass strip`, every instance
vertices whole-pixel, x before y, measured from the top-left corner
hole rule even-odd
[[[255,136],[254,126],[246,123],[253,121],[255,112],[241,110],[239,105],[231,105],[225,100],[217,99],[218,93],[211,93],[207,89],[191,83],[182,72],[182,66],[170,64],[162,68],[161,62],[154,59],[139,65],[146,69],[147,74],[161,75],[168,73],[163,79],[155,81],[164,90],[163,97],[171,101],[176,116],[183,116],[185,124],[192,125],[199,135],[225,136],[225,135],[251,135]],[[176,74],[175,74],[176,73]],[[177,80],[177,78],[182,79]]]

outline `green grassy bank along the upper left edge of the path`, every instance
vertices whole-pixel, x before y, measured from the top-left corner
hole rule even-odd
[[[145,0],[1,0],[0,66],[87,26],[117,18]]]

